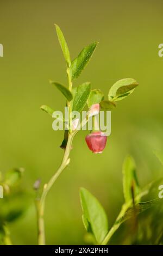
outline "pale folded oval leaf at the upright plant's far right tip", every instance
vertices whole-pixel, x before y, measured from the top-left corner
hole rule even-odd
[[[108,98],[110,101],[122,100],[133,93],[138,85],[133,78],[119,80],[110,88]]]

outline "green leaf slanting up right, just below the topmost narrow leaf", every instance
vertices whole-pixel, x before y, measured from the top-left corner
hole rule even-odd
[[[93,42],[92,44],[86,46],[82,52],[79,53],[79,56],[73,60],[70,67],[72,80],[78,78],[87,63],[89,63],[97,44],[98,42]]]

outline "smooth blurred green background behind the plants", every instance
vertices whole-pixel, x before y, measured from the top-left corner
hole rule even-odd
[[[100,42],[74,85],[91,81],[107,96],[121,78],[140,83],[112,111],[111,136],[103,154],[87,149],[87,132],[80,131],[74,139],[71,164],[47,197],[47,244],[84,243],[81,186],[101,201],[111,227],[123,203],[121,169],[128,153],[136,161],[141,186],[162,173],[153,154],[163,142],[163,57],[158,56],[162,7],[161,0],[1,1],[0,170],[24,167],[29,191],[37,178],[42,184],[48,181],[63,154],[63,132],[53,131],[52,119],[39,109],[47,104],[62,110],[65,105],[64,97],[48,84],[49,79],[67,82],[54,23],[64,32],[72,59],[85,45]],[[36,244],[34,204],[9,227],[15,244]]]

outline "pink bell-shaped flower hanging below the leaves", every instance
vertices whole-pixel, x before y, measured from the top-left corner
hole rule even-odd
[[[85,141],[87,146],[93,153],[102,153],[106,145],[107,136],[104,132],[94,131],[85,137]]]

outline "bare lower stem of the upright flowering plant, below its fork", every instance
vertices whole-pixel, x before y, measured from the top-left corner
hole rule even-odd
[[[71,145],[73,141],[75,133],[70,133],[68,136],[67,146],[65,149],[65,154],[58,168],[57,172],[52,176],[47,184],[43,187],[43,192],[41,198],[36,202],[36,210],[37,210],[37,225],[38,225],[38,243],[39,245],[45,245],[45,225],[44,225],[44,211],[45,211],[45,200],[48,192],[51,190],[54,182],[58,179],[62,171],[67,167],[70,163],[69,155],[71,151]]]

